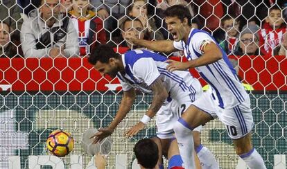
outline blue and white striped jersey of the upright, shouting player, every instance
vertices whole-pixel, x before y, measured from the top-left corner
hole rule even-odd
[[[174,41],[173,46],[184,51],[188,60],[195,60],[203,54],[202,48],[208,42],[217,44],[216,40],[211,37],[209,33],[204,30],[192,28],[187,43],[184,41]],[[212,64],[196,67],[195,69],[216,92],[218,105],[222,108],[229,109],[243,103],[249,96],[238,80],[236,71],[229,62],[226,53],[222,48],[220,48],[220,50],[223,53],[222,59]]]

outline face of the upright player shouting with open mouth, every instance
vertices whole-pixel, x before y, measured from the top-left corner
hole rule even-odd
[[[173,35],[175,41],[180,41],[184,38],[184,25],[178,17],[166,17],[166,25],[168,32]]]

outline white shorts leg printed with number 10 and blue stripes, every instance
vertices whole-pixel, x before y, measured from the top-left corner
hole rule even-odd
[[[250,98],[231,109],[220,107],[218,109],[217,116],[225,125],[231,139],[240,139],[251,132],[254,122],[250,108]]]

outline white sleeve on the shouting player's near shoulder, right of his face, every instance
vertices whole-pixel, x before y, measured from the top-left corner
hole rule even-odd
[[[214,42],[214,39],[212,39],[211,35],[208,35],[207,33],[195,33],[193,37],[191,37],[191,45],[193,49],[200,54],[203,54],[205,46],[211,42]]]

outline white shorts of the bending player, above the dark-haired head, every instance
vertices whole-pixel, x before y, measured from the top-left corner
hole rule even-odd
[[[187,108],[187,105],[178,105],[177,101],[171,100],[165,106],[162,106],[157,112],[157,137],[159,139],[172,139],[173,135],[173,125],[180,118],[182,112]],[[193,131],[200,132],[202,126],[196,127]]]

